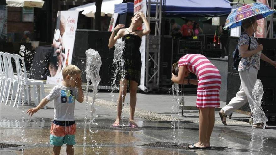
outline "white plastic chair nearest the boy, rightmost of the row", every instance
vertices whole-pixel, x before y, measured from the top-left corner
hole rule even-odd
[[[28,79],[24,59],[22,59],[22,57],[18,54],[13,54],[13,55],[14,55],[14,59],[15,59],[17,79],[18,79],[17,93],[15,96],[15,101],[14,101],[13,107],[16,106],[16,102],[17,102],[17,107],[19,107],[19,105],[21,103],[23,94],[22,94],[22,91],[20,91],[20,87],[25,88],[24,89],[25,90],[24,98],[27,98],[28,104],[31,105],[31,99],[29,98],[29,94],[30,94],[29,86],[31,86],[31,85],[33,85],[35,105],[37,106],[40,102],[40,99],[43,99],[45,97],[43,81]],[[21,60],[21,63],[20,63],[20,60]],[[23,71],[21,70],[21,68],[23,68]],[[38,85],[41,88],[39,92],[37,90]],[[40,98],[39,94],[41,95],[41,98]],[[22,104],[24,104],[24,103],[22,103]],[[44,109],[46,109],[46,106],[44,106]]]

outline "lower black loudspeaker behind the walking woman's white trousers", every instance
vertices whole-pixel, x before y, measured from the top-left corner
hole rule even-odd
[[[262,81],[263,84],[263,104],[262,108],[266,114],[266,116],[275,116],[276,115],[276,82],[274,77],[258,77]],[[239,91],[241,85],[241,80],[239,74],[236,73],[228,73],[227,78],[227,98],[226,103],[228,104],[233,97],[236,96],[236,93]],[[240,108],[240,110],[251,112],[249,108],[249,104],[246,103],[244,106]]]

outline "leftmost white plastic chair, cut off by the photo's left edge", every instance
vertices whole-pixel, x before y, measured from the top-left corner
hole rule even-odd
[[[8,85],[11,81],[11,78],[9,78],[9,67],[8,67],[8,59],[7,59],[7,55],[4,52],[0,52],[1,56],[2,56],[2,60],[3,60],[3,66],[4,66],[4,79],[1,85],[1,92],[0,92],[0,102],[4,103],[6,102],[6,95],[8,93]]]

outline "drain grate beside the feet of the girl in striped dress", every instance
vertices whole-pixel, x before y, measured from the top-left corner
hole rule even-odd
[[[172,149],[182,149],[186,150],[189,149],[188,146],[192,144],[187,143],[171,143],[171,142],[156,142],[156,143],[150,143],[150,144],[143,144],[140,146],[146,146],[146,147],[161,147],[161,148],[172,148]]]

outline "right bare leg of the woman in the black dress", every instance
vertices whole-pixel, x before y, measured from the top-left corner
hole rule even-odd
[[[136,107],[136,101],[137,101],[137,86],[138,83],[135,81],[130,81],[130,121],[134,120],[134,112]]]

